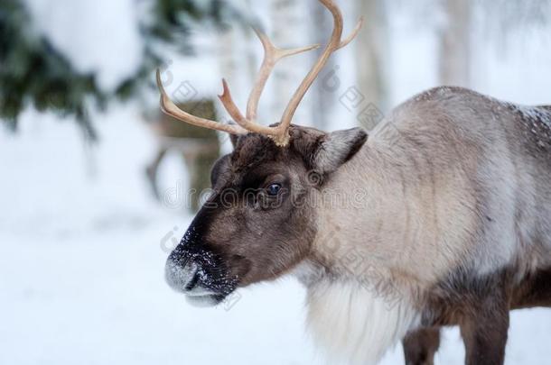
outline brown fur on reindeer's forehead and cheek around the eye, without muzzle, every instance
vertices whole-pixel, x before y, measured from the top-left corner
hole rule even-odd
[[[229,268],[241,266],[235,261],[247,262],[247,269],[236,273],[241,286],[277,278],[304,259],[315,234],[313,212],[307,206],[296,209],[294,203],[310,188],[302,156],[250,134],[219,165],[213,196],[203,208],[215,209],[205,242]],[[284,190],[276,198],[265,192],[273,183]]]

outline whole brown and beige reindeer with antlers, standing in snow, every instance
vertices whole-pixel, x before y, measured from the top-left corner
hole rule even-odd
[[[331,39],[279,123],[257,123],[266,80],[279,59],[314,46],[280,50],[257,32],[266,56],[247,113],[225,81],[219,96],[235,124],[178,109],[157,71],[164,113],[229,132],[234,145],[167,260],[169,285],[213,306],[238,287],[294,275],[332,363],[376,363],[403,340],[407,364],[430,364],[439,328],[459,325],[467,364],[502,364],[509,310],[551,305],[551,106],[436,87],[369,136],[294,125],[327,59],[361,26],[342,40],[339,8],[320,2]]]

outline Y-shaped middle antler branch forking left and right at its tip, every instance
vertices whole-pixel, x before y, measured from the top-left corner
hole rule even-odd
[[[294,56],[295,54],[320,48],[319,44],[314,44],[308,47],[282,50],[275,47],[274,43],[270,41],[266,33],[261,32],[256,27],[253,27],[253,30],[257,34],[258,39],[262,42],[262,47],[264,48],[264,60],[262,61],[262,66],[258,71],[257,79],[255,80],[255,86],[253,87],[253,90],[248,97],[247,120],[251,122],[255,122],[257,120],[258,102],[260,100],[260,96],[262,96],[264,87],[266,87],[267,79],[270,77],[270,74],[275,67],[275,64],[280,59],[284,59],[285,57]]]

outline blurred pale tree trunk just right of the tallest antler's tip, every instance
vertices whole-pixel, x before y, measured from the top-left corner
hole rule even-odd
[[[383,0],[358,0],[358,12],[366,19],[361,30],[357,49],[358,84],[365,102],[381,113],[388,111],[388,76],[386,65],[389,63],[388,22]],[[372,129],[378,118],[369,118]]]

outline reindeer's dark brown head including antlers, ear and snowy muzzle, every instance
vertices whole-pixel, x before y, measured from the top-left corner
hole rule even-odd
[[[267,78],[279,59],[317,46],[280,50],[257,31],[266,55],[248,99],[247,115],[239,112],[225,81],[219,96],[237,124],[221,124],[182,111],[166,96],[157,71],[164,113],[229,132],[234,144],[234,151],[213,167],[212,194],[166,263],[168,283],[193,304],[216,305],[235,288],[278,278],[307,258],[317,231],[310,197],[367,139],[360,128],[326,133],[291,124],[297,106],[332,52],[352,41],[361,27],[360,20],[342,41],[339,8],[332,0],[320,1],[334,18],[332,38],[280,123],[266,127],[256,122]]]

